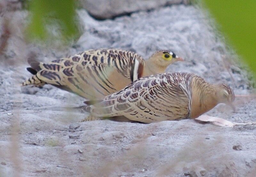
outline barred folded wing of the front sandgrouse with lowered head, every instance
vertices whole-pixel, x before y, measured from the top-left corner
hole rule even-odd
[[[179,85],[171,86],[150,76],[91,106],[91,113],[96,117],[125,116],[144,123],[182,119],[188,115],[188,96]]]

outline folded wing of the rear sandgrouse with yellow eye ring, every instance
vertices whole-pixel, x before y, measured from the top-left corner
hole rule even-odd
[[[57,68],[59,64],[49,64],[37,73],[38,78],[56,87],[74,92],[86,99],[100,99],[112,94],[130,83],[115,66],[70,65]],[[50,69],[49,69],[50,68]]]

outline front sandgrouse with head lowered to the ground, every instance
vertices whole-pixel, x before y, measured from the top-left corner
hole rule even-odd
[[[219,103],[235,110],[234,99],[233,90],[225,84],[210,84],[193,73],[162,73],[140,78],[102,101],[85,106],[90,116],[82,121],[120,116],[143,123],[193,119]]]

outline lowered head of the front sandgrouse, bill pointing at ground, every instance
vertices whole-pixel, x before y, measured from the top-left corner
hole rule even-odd
[[[217,91],[217,99],[219,103],[224,103],[229,105],[233,111],[236,111],[236,108],[234,106],[234,101],[235,101],[235,94],[228,85],[226,84],[219,84],[219,90]]]

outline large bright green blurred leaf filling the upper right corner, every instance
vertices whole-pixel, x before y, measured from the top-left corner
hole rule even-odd
[[[256,78],[256,0],[203,0]]]

